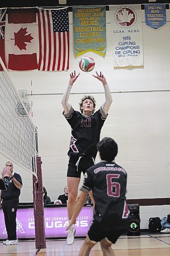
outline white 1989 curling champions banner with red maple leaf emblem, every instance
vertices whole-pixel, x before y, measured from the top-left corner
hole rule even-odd
[[[143,66],[140,5],[110,6],[114,68]]]

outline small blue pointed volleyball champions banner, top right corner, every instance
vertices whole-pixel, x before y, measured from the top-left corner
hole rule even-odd
[[[147,4],[144,5],[145,23],[147,26],[158,29],[166,24],[166,6],[165,4]]]

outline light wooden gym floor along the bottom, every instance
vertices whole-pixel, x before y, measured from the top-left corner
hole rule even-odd
[[[76,239],[73,245],[67,245],[65,240],[47,240],[44,249],[36,249],[35,241],[19,241],[18,245],[4,245],[1,241],[0,256],[77,256],[83,241]],[[115,256],[169,256],[170,233],[121,236],[112,248]],[[103,255],[99,243],[89,255]]]

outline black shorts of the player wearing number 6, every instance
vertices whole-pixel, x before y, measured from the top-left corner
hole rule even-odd
[[[87,234],[90,241],[100,242],[104,238],[107,238],[112,244],[115,244],[124,231],[125,230],[111,230],[109,227],[108,231],[106,231],[106,227],[102,229],[101,224],[99,225],[99,223],[97,224],[93,220]]]

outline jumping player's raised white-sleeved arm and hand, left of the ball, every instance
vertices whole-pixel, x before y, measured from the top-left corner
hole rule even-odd
[[[68,103],[68,98],[69,98],[69,94],[70,94],[70,91],[72,88],[72,84],[74,84],[74,82],[77,80],[79,75],[80,75],[80,73],[78,75],[76,75],[76,71],[70,73],[70,75],[69,75],[68,86],[63,94],[62,101],[61,101],[61,104],[63,106],[65,114],[68,114],[71,109],[71,104]]]

